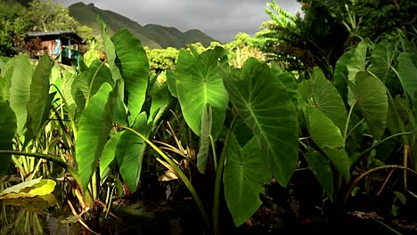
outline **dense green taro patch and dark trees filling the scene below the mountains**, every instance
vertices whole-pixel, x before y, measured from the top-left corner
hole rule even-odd
[[[272,20],[227,45],[151,50],[99,21],[106,60],[94,46],[72,69],[2,58],[0,174],[26,183],[0,199],[49,195],[68,172],[86,227],[121,197],[188,196],[216,234],[290,198],[291,228],[317,216],[342,230],[358,211],[415,226],[416,4],[302,3],[303,17],[267,4]]]

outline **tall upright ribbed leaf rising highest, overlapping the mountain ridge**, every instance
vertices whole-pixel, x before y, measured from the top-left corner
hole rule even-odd
[[[149,62],[141,41],[127,29],[120,29],[111,37],[116,49],[121,76],[125,82],[125,99],[129,109],[129,123],[133,124],[141,112],[148,87]]]

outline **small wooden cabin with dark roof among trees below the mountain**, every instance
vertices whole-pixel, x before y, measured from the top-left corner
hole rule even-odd
[[[31,58],[38,59],[47,52],[66,65],[79,65],[81,45],[86,41],[75,31],[29,32],[25,37],[25,49]]]

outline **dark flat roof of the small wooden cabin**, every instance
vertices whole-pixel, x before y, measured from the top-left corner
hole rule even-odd
[[[49,32],[29,32],[26,34],[26,40],[39,37],[42,41],[54,40],[58,38],[68,38],[70,39],[71,44],[86,44],[86,40],[84,40],[81,36],[75,31],[49,31]],[[67,41],[67,42],[65,42]],[[62,45],[67,45],[68,40],[62,40]]]

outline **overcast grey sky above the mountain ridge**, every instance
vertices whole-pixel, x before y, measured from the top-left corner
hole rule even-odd
[[[66,6],[81,0],[54,0]],[[269,20],[265,12],[270,0],[87,0],[98,8],[118,12],[141,25],[149,23],[175,27],[182,31],[200,29],[222,43],[245,32],[253,35]],[[300,11],[297,0],[276,0],[290,13]]]

